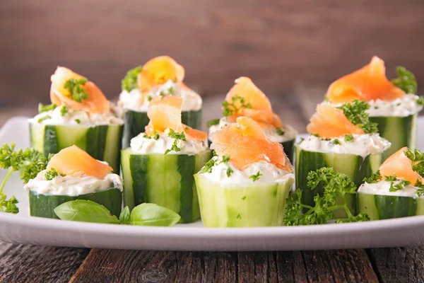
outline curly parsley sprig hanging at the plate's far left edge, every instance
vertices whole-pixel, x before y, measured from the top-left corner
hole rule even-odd
[[[8,144],[1,146],[0,168],[9,171],[0,185],[0,212],[19,212],[18,207],[16,207],[18,200],[13,196],[7,200],[3,192],[4,186],[12,173],[19,172],[20,178],[26,184],[30,179],[35,178],[40,171],[45,170],[47,162],[48,158],[45,158],[40,151],[35,149],[19,149],[16,151],[14,143],[10,146]]]

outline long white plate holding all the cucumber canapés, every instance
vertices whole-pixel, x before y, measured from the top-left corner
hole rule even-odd
[[[424,148],[424,118],[418,119],[418,147]],[[26,118],[9,120],[0,144],[28,147]],[[0,172],[0,180],[6,175]],[[201,222],[174,227],[117,226],[30,217],[28,196],[18,175],[6,186],[20,213],[0,213],[0,241],[47,246],[146,250],[310,250],[413,246],[424,243],[424,216],[353,224],[268,228],[204,228]]]

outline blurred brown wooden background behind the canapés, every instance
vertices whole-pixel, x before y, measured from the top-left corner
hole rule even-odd
[[[283,98],[324,89],[374,54],[424,83],[423,15],[422,0],[1,0],[0,107],[47,103],[57,65],[112,98],[127,69],[161,54],[204,96],[238,76]]]

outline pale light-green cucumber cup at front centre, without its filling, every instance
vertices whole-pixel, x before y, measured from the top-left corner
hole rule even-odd
[[[222,185],[195,174],[205,227],[282,226],[285,200],[294,178],[281,183]]]

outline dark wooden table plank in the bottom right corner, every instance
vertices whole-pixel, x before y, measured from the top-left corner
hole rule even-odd
[[[368,250],[380,282],[424,282],[424,246]]]

